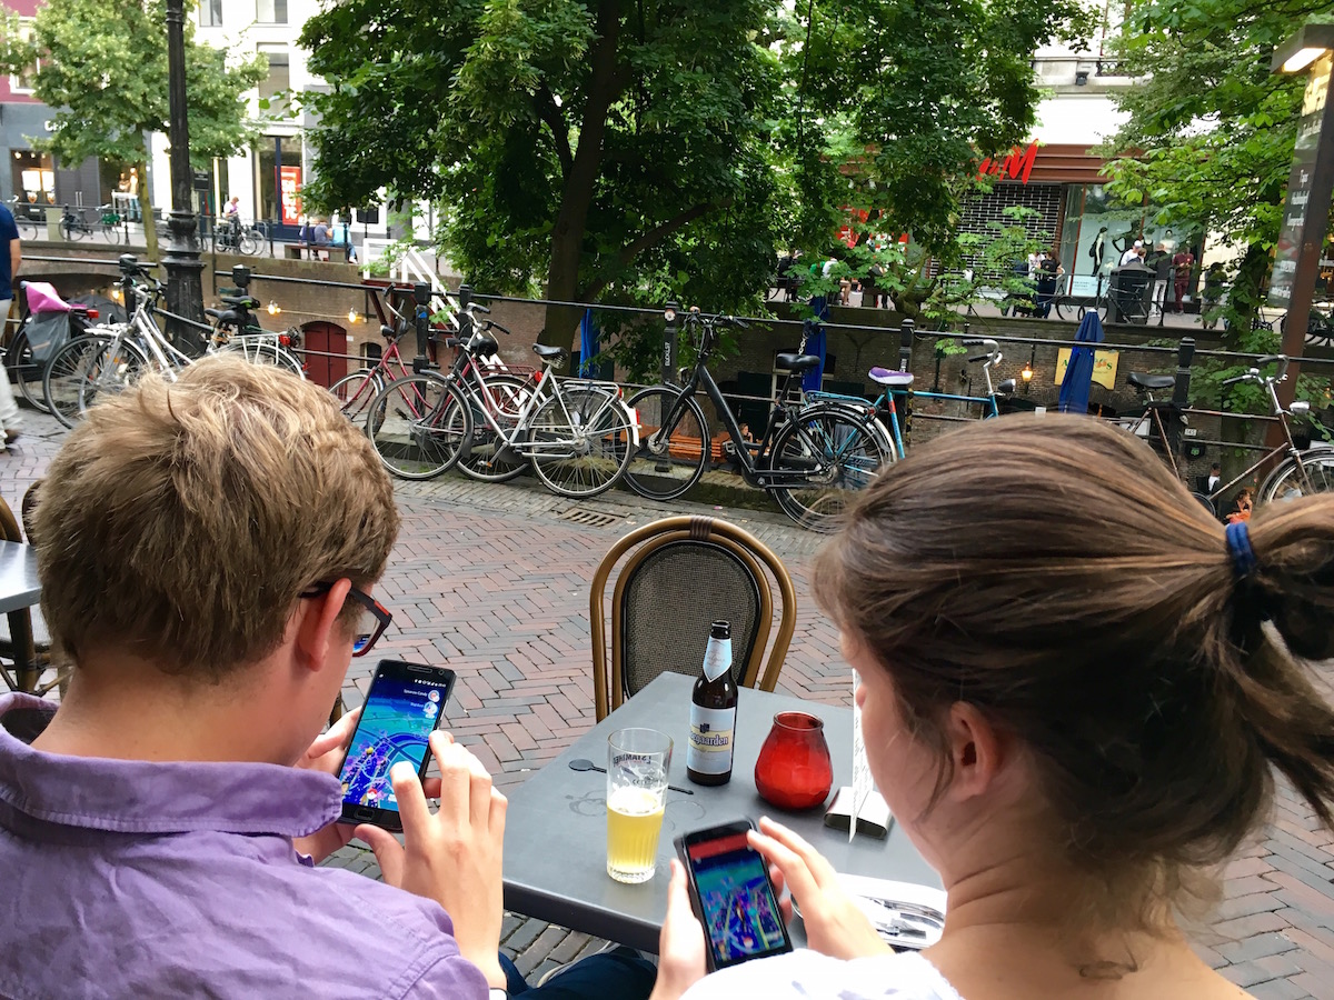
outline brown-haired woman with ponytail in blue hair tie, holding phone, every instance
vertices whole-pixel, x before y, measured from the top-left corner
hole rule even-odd
[[[1187,944],[1269,819],[1274,772],[1334,829],[1334,496],[1221,525],[1143,443],[1015,416],[860,495],[814,592],[859,672],[896,821],[940,873],[940,941],[892,955],[828,863],[752,835],[810,951],[704,976],[679,867],[655,996],[1223,1000]]]

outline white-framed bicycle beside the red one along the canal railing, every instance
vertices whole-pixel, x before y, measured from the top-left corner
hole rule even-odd
[[[371,401],[366,432],[390,472],[431,479],[454,468],[471,449],[476,415],[488,428],[486,440],[506,453],[507,464],[531,463],[543,485],[559,496],[596,496],[620,480],[639,432],[619,385],[556,379],[564,351],[544,344],[532,345],[543,368],[528,379],[479,372],[475,381],[464,380],[468,364],[494,356],[499,345],[476,328],[459,347],[448,375],[424,371],[398,379]],[[486,395],[478,395],[479,385]],[[503,389],[496,392],[496,385]]]

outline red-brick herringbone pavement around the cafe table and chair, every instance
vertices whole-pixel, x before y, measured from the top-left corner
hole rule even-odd
[[[29,415],[24,431],[0,455],[0,493],[15,511],[64,436],[40,415]],[[678,503],[668,511],[619,492],[575,503],[527,480],[483,485],[451,477],[399,483],[398,500],[403,532],[376,591],[395,617],[379,649],[446,663],[459,673],[447,725],[502,788],[523,781],[592,725],[588,583],[622,533],[670,512],[727,517],[778,552],[800,605],[779,687],[818,701],[850,701],[836,632],[810,593],[819,537],[776,509]],[[360,704],[375,659],[352,661],[348,704]],[[1325,673],[1334,680],[1334,667]],[[356,847],[331,863],[379,876],[375,857]],[[1227,868],[1223,901],[1194,940],[1257,997],[1334,1000],[1334,835],[1289,789],[1279,789],[1273,820]],[[602,944],[506,917],[503,947],[534,979]]]

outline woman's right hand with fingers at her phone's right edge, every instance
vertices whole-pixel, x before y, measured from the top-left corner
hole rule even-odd
[[[834,865],[819,851],[768,817],[762,819],[759,832],[751,831],[748,837],[751,847],[782,872],[787,891],[802,911],[810,948],[835,959],[890,952],[871,921],[843,889]],[[663,935],[666,940],[666,928]]]

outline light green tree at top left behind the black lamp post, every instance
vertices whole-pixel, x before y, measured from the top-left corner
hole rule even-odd
[[[257,135],[240,99],[268,69],[260,56],[227,65],[225,52],[195,44],[195,4],[185,7],[191,163],[207,167]],[[47,0],[28,43],[16,43],[16,16],[5,19],[4,68],[17,72],[40,56],[33,92],[55,109],[51,135],[31,137],[35,148],[68,164],[89,156],[123,160],[144,176],[147,136],[168,125],[165,11],[165,0]],[[148,256],[156,257],[145,188],[140,184],[139,201]]]

